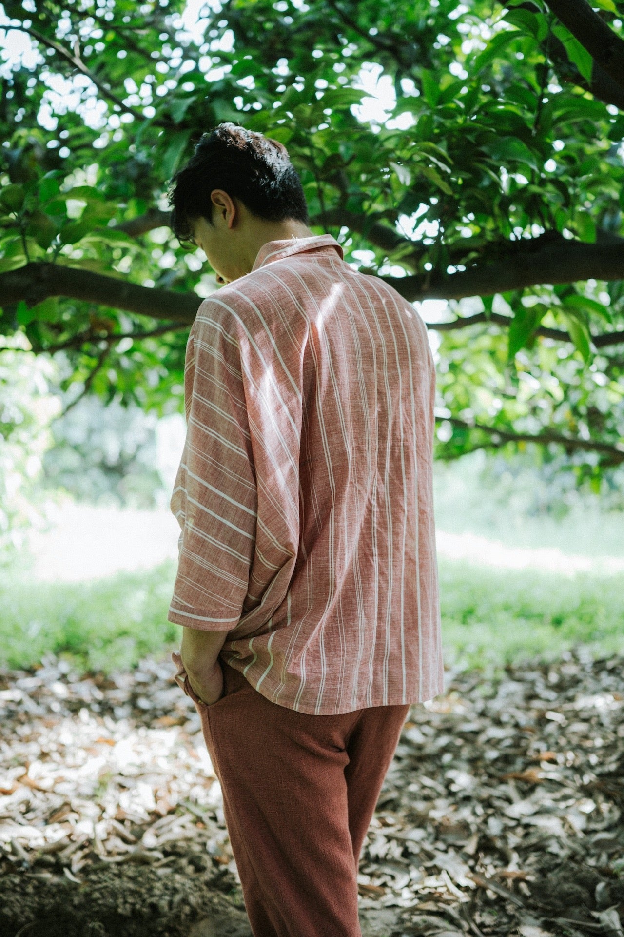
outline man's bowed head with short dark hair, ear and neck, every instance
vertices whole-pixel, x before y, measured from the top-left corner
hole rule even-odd
[[[312,234],[283,144],[236,124],[202,136],[173,178],[169,204],[176,236],[203,248],[222,283],[249,273],[268,241]]]

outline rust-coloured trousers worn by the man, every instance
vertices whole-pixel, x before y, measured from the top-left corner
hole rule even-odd
[[[313,716],[223,669],[216,703],[185,689],[221,782],[254,937],[361,937],[360,850],[410,706]]]

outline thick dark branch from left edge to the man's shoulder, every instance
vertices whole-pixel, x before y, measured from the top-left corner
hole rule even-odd
[[[116,277],[53,263],[27,263],[19,270],[0,274],[0,306],[20,300],[36,305],[49,296],[66,296],[152,319],[184,323],[195,319],[201,303],[193,292],[141,287]]]

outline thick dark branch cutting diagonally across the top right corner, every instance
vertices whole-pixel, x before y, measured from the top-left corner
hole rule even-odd
[[[545,0],[606,74],[624,87],[624,40],[595,13],[587,0]]]

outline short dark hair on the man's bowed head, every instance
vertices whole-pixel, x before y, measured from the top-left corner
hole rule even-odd
[[[211,223],[215,188],[266,221],[309,222],[303,186],[283,143],[243,126],[219,124],[203,134],[194,155],[171,180],[171,227],[180,241],[192,239],[197,218]]]

